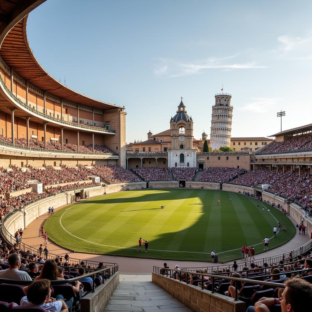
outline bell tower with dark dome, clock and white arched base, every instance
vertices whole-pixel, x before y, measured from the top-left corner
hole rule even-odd
[[[193,149],[193,120],[185,110],[181,96],[177,114],[170,119],[171,148],[168,149],[168,167],[196,167],[196,149]]]

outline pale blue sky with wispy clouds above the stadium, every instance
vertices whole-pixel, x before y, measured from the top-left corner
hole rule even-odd
[[[169,129],[181,96],[194,137],[210,134],[222,83],[232,136],[267,136],[280,131],[280,110],[283,130],[312,122],[311,11],[300,0],[48,0],[27,33],[57,80],[125,106],[128,143]]]

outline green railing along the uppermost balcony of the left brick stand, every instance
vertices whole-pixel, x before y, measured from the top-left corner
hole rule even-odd
[[[79,124],[79,123],[73,124],[73,122],[69,122],[69,121],[66,121],[66,120],[58,119],[58,118],[55,118],[55,117],[53,117],[53,116],[50,116],[50,115],[41,113],[41,112],[39,112],[38,110],[32,108],[31,106],[26,105],[26,103],[24,103],[20,98],[18,98],[15,94],[13,94],[13,93],[11,92],[11,90],[7,87],[7,85],[5,84],[5,82],[3,81],[2,76],[0,76],[0,81],[1,81],[1,84],[2,84],[3,88],[4,88],[4,89],[6,90],[6,92],[12,97],[12,99],[13,99],[14,101],[16,101],[19,105],[23,106],[23,107],[26,108],[27,110],[30,110],[32,113],[34,113],[34,114],[36,114],[36,115],[39,115],[39,116],[41,116],[41,117],[50,119],[50,120],[52,120],[52,121],[55,121],[55,122],[58,122],[58,123],[61,123],[61,124],[69,125],[69,126],[71,126],[71,127],[85,128],[85,129],[90,129],[90,130],[95,130],[95,131],[100,131],[100,132],[107,132],[107,133],[116,133],[115,130],[107,130],[107,129],[105,129],[105,128],[95,127],[95,126],[89,126],[89,125],[84,125],[84,124]]]

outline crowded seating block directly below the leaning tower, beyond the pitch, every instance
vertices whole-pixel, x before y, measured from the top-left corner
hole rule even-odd
[[[245,169],[227,168],[227,167],[208,167],[203,170],[199,177],[199,182],[217,182],[228,183],[237,176],[245,173]]]

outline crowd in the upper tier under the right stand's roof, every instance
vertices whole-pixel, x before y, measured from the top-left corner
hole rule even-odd
[[[261,149],[261,153],[279,153],[279,152],[290,152],[296,150],[312,149],[312,133],[294,135],[284,142],[274,141],[266,148]]]

